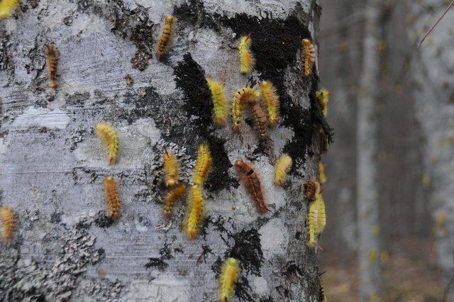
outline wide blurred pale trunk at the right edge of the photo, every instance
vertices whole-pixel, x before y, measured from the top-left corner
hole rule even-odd
[[[410,2],[416,40],[445,10],[447,1]],[[454,296],[454,11],[451,9],[428,36],[412,61],[416,113],[426,139],[423,184],[430,188],[429,201],[435,221],[436,250],[443,283]],[[449,300],[450,301],[450,300]]]

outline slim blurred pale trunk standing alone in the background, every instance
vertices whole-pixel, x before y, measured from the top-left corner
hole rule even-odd
[[[380,262],[380,224],[378,201],[378,118],[380,82],[381,1],[365,4],[365,33],[362,50],[362,73],[358,97],[358,233],[360,296],[369,301],[382,295]]]

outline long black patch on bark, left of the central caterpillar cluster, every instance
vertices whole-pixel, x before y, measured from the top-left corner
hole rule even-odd
[[[232,164],[224,147],[226,141],[216,138],[213,134],[214,128],[211,126],[213,102],[204,69],[192,59],[191,54],[187,53],[175,67],[174,74],[175,83],[184,95],[184,111],[187,117],[191,118],[191,133],[188,135],[199,136],[199,140],[193,139],[196,144],[206,141],[213,157],[213,169],[206,181],[206,189],[218,192],[230,186],[238,187],[238,180],[228,176],[228,169]],[[196,150],[196,147],[197,145],[194,145],[191,149]],[[195,152],[193,157],[196,157]]]

